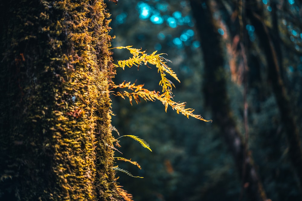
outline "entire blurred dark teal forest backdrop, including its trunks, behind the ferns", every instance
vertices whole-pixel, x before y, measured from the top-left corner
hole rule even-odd
[[[120,140],[122,156],[142,170],[119,167],[145,177],[117,173],[134,200],[302,200],[300,1],[120,0],[108,7],[112,46],[167,53],[181,80],[174,100],[213,119],[112,98],[112,125],[153,150]],[[130,57],[113,51],[115,62]],[[160,90],[156,74],[155,67],[118,69],[114,82]]]

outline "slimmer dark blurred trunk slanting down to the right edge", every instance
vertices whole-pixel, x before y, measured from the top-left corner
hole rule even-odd
[[[280,111],[281,121],[284,125],[286,136],[288,139],[289,158],[297,172],[300,185],[302,184],[302,147],[299,137],[299,129],[296,123],[291,101],[288,96],[287,89],[284,85],[284,80],[281,76],[281,63],[278,62],[279,45],[274,44],[270,37],[270,33],[264,20],[262,19],[262,8],[258,5],[247,10],[247,17],[255,27],[255,32],[259,38],[260,44],[263,47],[263,53],[266,57],[268,67],[268,79],[271,82],[272,90]],[[280,53],[279,53],[280,54]],[[281,62],[282,60],[280,60]]]

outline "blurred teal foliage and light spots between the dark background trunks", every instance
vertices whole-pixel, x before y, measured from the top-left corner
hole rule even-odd
[[[272,1],[272,0],[271,0]],[[227,90],[231,108],[236,117],[237,127],[244,133],[243,84],[240,72],[232,71],[230,66],[230,38],[238,27],[227,24],[236,10],[236,1],[218,1],[225,9],[216,5],[214,18],[219,20],[217,30],[223,39],[225,50],[225,72]],[[260,2],[265,24],[272,28],[271,12],[273,7],[268,0]],[[278,2],[279,3],[279,2]],[[133,45],[152,53],[167,53],[172,63],[169,65],[177,74],[181,83],[175,83],[173,92],[175,102],[187,102],[195,108],[197,114],[210,119],[211,114],[204,108],[202,94],[203,58],[194,19],[188,1],[173,0],[120,0],[117,5],[108,3],[111,18],[111,35],[116,36],[113,47]],[[298,125],[301,122],[301,5],[294,0],[282,1],[277,5],[280,38],[282,39],[282,77],[290,92],[292,107],[295,109]],[[233,14],[233,15],[232,15]],[[255,34],[255,27],[246,25],[249,36],[251,55],[260,55],[258,74],[250,73],[249,92],[249,151],[253,153],[262,183],[268,198],[277,200],[301,200],[301,184],[288,159],[288,145],[275,98],[267,80],[266,61],[261,56],[262,50]],[[206,31],[206,30],[205,30]],[[114,51],[114,60],[124,60],[125,52]],[[281,58],[280,58],[281,59]],[[236,61],[237,62],[237,61]],[[236,63],[235,62],[235,63]],[[238,64],[238,63],[236,63]],[[239,65],[239,64],[238,64]],[[155,67],[153,67],[155,68]],[[118,71],[120,69],[117,69]],[[137,80],[147,89],[160,91],[154,69],[125,69],[117,72],[115,83]],[[235,76],[235,77],[234,77]],[[259,79],[258,79],[259,78]],[[219,97],[217,97],[219,99]],[[112,125],[121,135],[135,135],[146,140],[153,152],[137,146],[133,140],[123,139],[119,150],[137,161],[142,170],[131,164],[117,162],[119,167],[129,170],[133,175],[145,177],[137,179],[117,173],[118,182],[133,194],[133,199],[140,200],[238,200],[241,195],[241,179],[238,175],[232,155],[218,132],[211,123],[201,122],[177,115],[171,109],[167,113],[159,102],[141,102],[131,106],[129,102],[114,97]],[[116,152],[117,157],[120,153]],[[245,196],[242,200],[245,200]]]

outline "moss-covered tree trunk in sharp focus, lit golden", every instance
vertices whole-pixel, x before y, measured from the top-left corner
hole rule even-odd
[[[1,1],[0,16],[0,200],[119,199],[104,2]]]

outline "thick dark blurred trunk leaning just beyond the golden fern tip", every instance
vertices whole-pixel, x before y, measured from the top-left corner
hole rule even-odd
[[[204,96],[206,104],[211,108],[213,123],[219,126],[235,159],[248,199],[264,201],[266,200],[265,191],[253,164],[252,155],[243,143],[230,110],[223,68],[223,50],[209,1],[191,0],[191,8],[201,39],[205,71]]]

